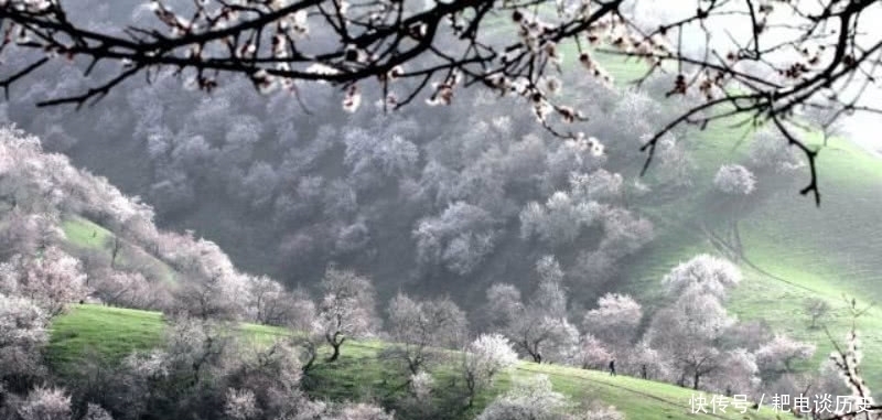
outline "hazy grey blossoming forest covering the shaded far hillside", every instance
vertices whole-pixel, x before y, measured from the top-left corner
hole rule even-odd
[[[99,3],[77,8],[94,8],[96,25],[128,19],[123,4]],[[624,159],[638,157],[650,121],[675,109],[591,79],[569,82],[594,91],[577,101],[598,117],[585,122],[598,139],[561,141],[515,99],[480,90],[458,93],[452,108],[384,114],[365,104],[348,115],[334,89],[310,85],[304,112],[290,95],[263,97],[248,80],[211,96],[181,90],[171,72],[128,82],[101,107],[56,108],[46,125],[24,93],[85,83],[66,75],[17,85],[23,95],[11,97],[8,120],[143,197],[160,226],[193,229],[240,268],[289,288],[314,284],[336,261],[381,279],[381,300],[400,287],[433,292],[439,278],[474,284],[452,295],[471,308],[478,302],[460,299],[488,279],[530,283],[526,263],[508,261],[560,254],[567,278],[583,284],[573,292],[594,299],[653,237],[633,209],[639,191],[688,185],[688,157],[673,136],[652,179],[637,181],[637,164]],[[56,131],[80,140],[55,141]]]

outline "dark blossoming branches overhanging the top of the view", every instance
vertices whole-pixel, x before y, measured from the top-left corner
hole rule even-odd
[[[37,77],[53,61],[77,63],[86,76],[106,62],[112,67],[85,91],[44,98],[41,106],[94,104],[125,80],[141,74],[150,80],[164,68],[205,91],[225,75],[295,96],[300,83],[329,83],[351,111],[368,83],[381,88],[375,99],[384,109],[421,97],[450,105],[456,89],[481,86],[523,97],[555,136],[595,142],[569,128],[584,117],[556,96],[557,75],[585,72],[612,82],[593,55],[604,50],[649,63],[637,83],[671,74],[668,96],[699,99],[643,146],[644,172],[659,139],[675,128],[733,118],[742,126],[771,123],[808,160],[810,181],[800,193],[819,205],[818,150],[802,138],[799,116],[824,108],[826,127],[846,114],[879,111],[860,99],[876,83],[882,40],[867,26],[882,6],[698,0],[689,12],[658,18],[655,4],[666,7],[650,0],[150,0],[131,25],[94,29],[72,20],[58,0],[0,0],[0,57],[31,58],[18,68],[0,65],[0,86],[9,95],[15,82]],[[581,66],[563,66],[563,50],[574,50]]]

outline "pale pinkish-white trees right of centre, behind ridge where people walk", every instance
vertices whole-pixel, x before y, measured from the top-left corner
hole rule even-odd
[[[539,284],[528,300],[510,284],[494,284],[484,309],[496,329],[535,362],[603,369],[668,380],[695,389],[749,394],[793,380],[814,345],[773,335],[727,313],[727,292],[741,279],[731,262],[701,255],[675,267],[664,283],[666,305],[645,319],[633,298],[610,293],[581,315],[571,311],[553,258],[537,263]],[[579,316],[577,316],[579,317]],[[582,333],[580,334],[580,330]]]

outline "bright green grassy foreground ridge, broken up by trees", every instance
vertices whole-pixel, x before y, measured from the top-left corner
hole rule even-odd
[[[62,373],[69,371],[83,357],[119,360],[132,351],[157,345],[162,329],[162,316],[155,312],[77,305],[55,320],[46,358],[54,369]],[[284,334],[279,329],[252,324],[243,325],[241,331],[257,342]],[[310,377],[310,392],[315,398],[331,400],[357,400],[366,396],[387,398],[400,394],[404,376],[380,357],[384,347],[386,344],[381,342],[347,343],[337,363],[320,363],[314,368]],[[577,401],[600,400],[613,405],[625,412],[628,419],[775,418],[767,407],[761,407],[759,412],[750,410],[746,414],[693,416],[690,413],[692,391],[689,389],[631,377],[610,377],[602,371],[528,362],[520,362],[510,374],[503,374],[495,387],[482,396],[475,410],[508,388],[514,378],[536,374],[547,375],[556,390]],[[451,375],[451,369],[440,369],[437,380],[443,384],[444,379],[449,379],[445,377]]]

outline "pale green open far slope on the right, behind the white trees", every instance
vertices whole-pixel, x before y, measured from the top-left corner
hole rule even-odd
[[[621,87],[644,75],[645,66],[634,60],[601,54],[599,60]],[[740,141],[743,130],[716,122],[687,137],[698,168],[698,185],[690,196],[659,208],[644,208],[659,238],[626,272],[625,289],[653,306],[662,276],[698,252],[714,252],[708,238],[693,225],[696,219],[722,224],[707,205],[712,176],[723,163],[744,162],[750,140]],[[776,331],[818,344],[811,366],[832,349],[822,330],[809,330],[803,310],[806,298],[827,300],[833,308],[824,323],[837,340],[851,326],[846,299],[857,298],[861,306],[882,299],[882,227],[876,215],[882,208],[882,159],[847,139],[824,146],[818,133],[804,140],[820,149],[817,160],[821,206],[798,190],[808,182],[808,171],[782,186],[778,175],[759,179],[777,184],[773,194],[751,203],[739,216],[746,262],[741,263],[745,281],[734,292],[729,309],[740,319],[767,320]],[[642,163],[642,162],[638,162]],[[637,163],[635,163],[637,164]],[[786,184],[786,182],[784,183]],[[747,263],[750,262],[750,263]],[[756,269],[759,268],[759,270]],[[846,298],[847,297],[847,298]],[[882,386],[882,310],[873,308],[858,321],[863,336],[864,371],[873,388]]]

